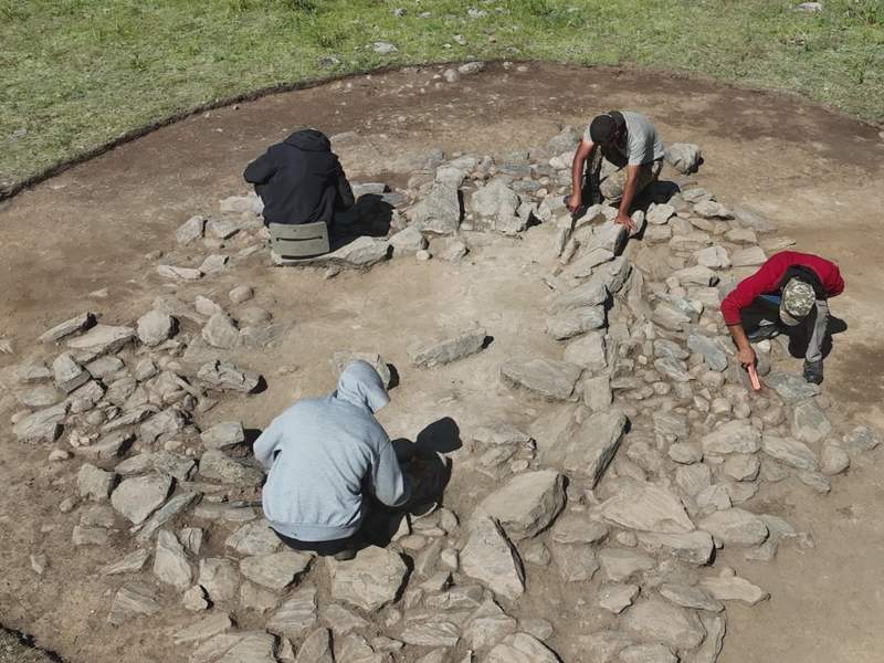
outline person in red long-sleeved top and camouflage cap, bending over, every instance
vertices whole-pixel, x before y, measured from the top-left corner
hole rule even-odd
[[[739,362],[756,362],[751,341],[788,334],[807,341],[804,379],[822,382],[828,299],[843,291],[838,265],[819,255],[797,251],[771,255],[722,301],[722,315],[737,346]]]

